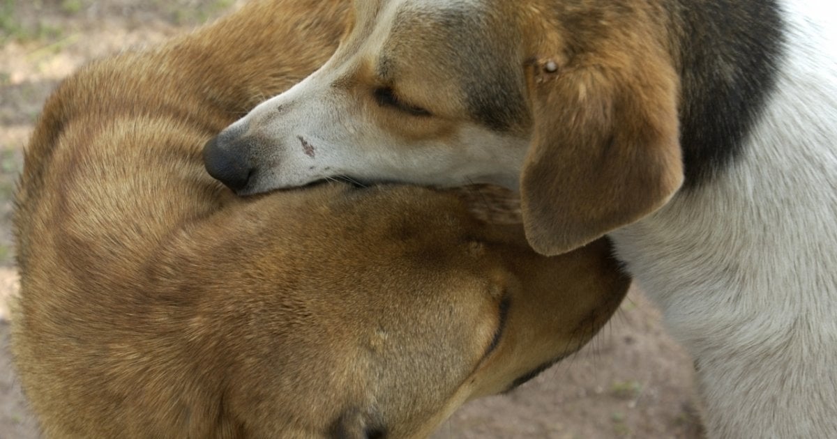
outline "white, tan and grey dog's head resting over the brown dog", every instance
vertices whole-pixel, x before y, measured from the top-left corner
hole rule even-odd
[[[640,2],[355,2],[336,54],[205,149],[239,194],[345,176],[518,187],[561,253],[683,180],[665,13]]]

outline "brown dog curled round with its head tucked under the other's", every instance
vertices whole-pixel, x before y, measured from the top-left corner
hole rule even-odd
[[[261,1],[82,69],[26,152],[13,350],[49,437],[424,436],[583,345],[628,287],[453,193],[242,200],[212,135],[331,54],[343,1]]]

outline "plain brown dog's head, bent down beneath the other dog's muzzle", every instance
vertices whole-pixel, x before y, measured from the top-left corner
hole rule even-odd
[[[193,237],[212,267],[194,282],[253,436],[429,436],[578,350],[629,285],[607,242],[543,257],[520,224],[424,188],[319,186],[233,213]]]

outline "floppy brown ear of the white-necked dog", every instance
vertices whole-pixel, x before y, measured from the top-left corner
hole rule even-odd
[[[667,63],[639,63],[527,66],[533,136],[521,210],[538,253],[564,253],[635,222],[682,184],[677,77]]]

